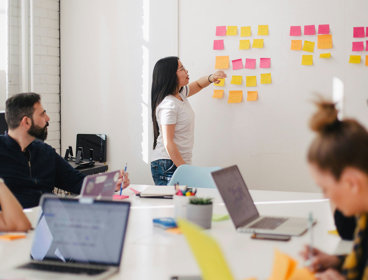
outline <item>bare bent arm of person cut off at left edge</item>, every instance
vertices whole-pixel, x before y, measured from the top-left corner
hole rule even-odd
[[[0,178],[0,231],[28,231],[31,223],[18,200]]]

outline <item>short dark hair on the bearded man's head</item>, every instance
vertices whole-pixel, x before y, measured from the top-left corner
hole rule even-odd
[[[40,101],[40,95],[34,92],[18,93],[8,98],[5,107],[5,120],[9,129],[17,128],[24,116],[32,118],[33,105]]]

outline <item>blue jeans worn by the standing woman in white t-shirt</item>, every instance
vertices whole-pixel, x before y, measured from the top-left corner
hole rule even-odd
[[[152,178],[155,185],[167,185],[176,170],[171,159],[158,159],[151,162]]]

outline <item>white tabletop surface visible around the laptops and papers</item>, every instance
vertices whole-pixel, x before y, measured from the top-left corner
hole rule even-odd
[[[136,189],[139,186],[132,186]],[[132,194],[129,189],[125,194]],[[199,189],[199,196],[214,197],[214,213],[227,213],[217,190]],[[318,220],[314,228],[316,247],[335,253],[341,245],[343,251],[350,250],[350,242],[343,242],[338,236],[328,234],[333,229],[333,218],[329,201],[321,194],[251,191],[257,208],[262,215],[294,215],[307,217],[310,211]],[[173,201],[131,196],[131,216],[123,252],[120,273],[111,279],[169,279],[172,275],[198,275],[199,268],[183,235],[165,232],[152,225],[152,218],[173,216]],[[32,215],[35,221],[36,211]],[[231,220],[213,222],[206,231],[220,244],[230,268],[237,279],[256,276],[267,279],[273,262],[274,248],[291,255],[297,260],[303,244],[309,242],[308,234],[293,237],[289,242],[261,241],[250,239],[249,234],[238,233]],[[0,241],[2,261],[0,270],[13,267],[29,259],[33,232],[24,240]],[[341,251],[339,252],[341,253]],[[6,258],[4,258],[6,256]],[[4,275],[0,272],[0,275]]]

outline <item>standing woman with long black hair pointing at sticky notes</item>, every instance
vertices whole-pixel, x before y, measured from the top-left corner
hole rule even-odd
[[[188,71],[178,57],[157,61],[151,90],[154,137],[151,171],[156,185],[167,185],[178,166],[191,164],[194,112],[187,98],[221,78],[226,78],[226,74],[217,71],[189,84]]]

